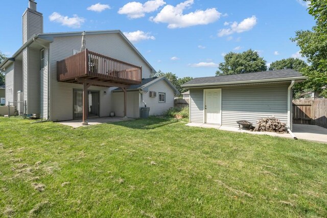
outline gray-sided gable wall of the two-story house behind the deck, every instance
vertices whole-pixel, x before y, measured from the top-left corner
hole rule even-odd
[[[68,120],[73,119],[73,89],[82,89],[82,85],[57,82],[57,61],[61,61],[73,55],[73,50],[80,51],[82,36],[56,37],[50,44],[50,119]],[[138,66],[143,66],[143,77],[149,78],[151,69],[131,49],[130,45],[119,34],[87,35],[86,48],[112,58],[126,61]],[[90,87],[100,91],[100,116],[109,116],[113,110],[111,90],[105,87]],[[104,95],[106,91],[106,95]]]

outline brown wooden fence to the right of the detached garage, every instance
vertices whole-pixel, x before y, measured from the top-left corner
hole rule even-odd
[[[327,128],[327,99],[293,100],[293,124]]]

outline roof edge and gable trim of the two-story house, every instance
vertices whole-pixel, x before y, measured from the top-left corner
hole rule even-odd
[[[22,50],[24,50],[27,46],[32,44],[36,39],[42,39],[44,41],[53,42],[55,37],[66,37],[66,36],[82,36],[83,31],[79,32],[63,32],[63,33],[40,33],[33,35],[26,43],[24,43],[17,52],[12,56],[12,58],[6,58],[2,63],[0,63],[0,68],[2,68],[8,61],[13,61],[14,58],[20,54]],[[102,30],[102,31],[85,31],[85,35],[97,35],[97,34],[109,34],[109,33],[117,33],[120,34],[125,41],[129,44],[129,46],[136,52],[136,54],[151,68],[152,72],[156,72],[155,69],[151,66],[151,64],[139,53],[136,47],[127,39],[127,37],[120,30]]]

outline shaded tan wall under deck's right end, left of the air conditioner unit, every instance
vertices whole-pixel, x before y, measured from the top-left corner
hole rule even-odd
[[[115,116],[124,116],[124,92],[112,93],[112,105]],[[127,92],[127,117],[139,117],[139,92]]]

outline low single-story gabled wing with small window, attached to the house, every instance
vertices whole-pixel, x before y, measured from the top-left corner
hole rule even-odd
[[[179,92],[165,77],[142,79],[141,84],[127,88],[127,117],[138,118],[141,107],[150,107],[149,115],[162,115],[174,107],[175,95]],[[124,116],[124,92],[121,88],[112,91],[113,111]]]

